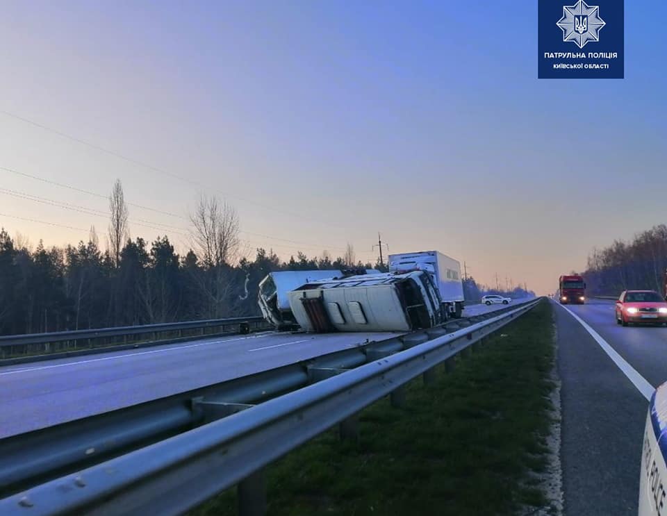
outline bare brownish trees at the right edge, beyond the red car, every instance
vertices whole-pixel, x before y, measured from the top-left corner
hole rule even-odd
[[[589,296],[617,296],[623,290],[656,290],[665,294],[667,226],[642,231],[629,242],[615,240],[593,249],[588,256],[586,292]]]

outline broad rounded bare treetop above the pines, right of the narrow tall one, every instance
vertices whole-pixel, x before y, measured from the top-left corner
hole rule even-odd
[[[229,265],[238,258],[239,222],[233,206],[202,194],[190,222],[192,246],[206,267]]]

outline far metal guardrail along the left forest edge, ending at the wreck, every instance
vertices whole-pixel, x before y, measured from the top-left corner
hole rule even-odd
[[[110,347],[115,344],[132,344],[138,338],[148,335],[149,340],[158,341],[165,337],[177,340],[184,337],[215,334],[230,326],[247,323],[252,326],[266,326],[263,317],[232,317],[228,319],[206,319],[202,321],[145,324],[142,326],[120,326],[116,328],[95,328],[91,330],[58,331],[52,333],[30,333],[27,335],[3,335],[0,337],[0,358],[35,353],[60,353],[83,348]]]

